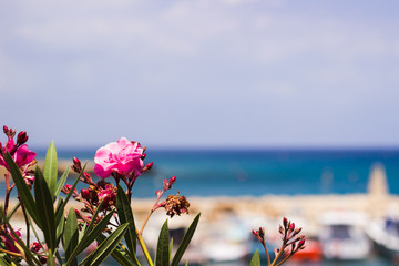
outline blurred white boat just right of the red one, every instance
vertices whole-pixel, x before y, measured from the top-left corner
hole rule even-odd
[[[371,242],[364,225],[366,214],[354,212],[326,212],[320,216],[319,241],[323,255],[327,259],[367,259]]]

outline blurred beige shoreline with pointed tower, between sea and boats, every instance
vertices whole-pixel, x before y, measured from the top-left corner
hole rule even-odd
[[[71,163],[66,160],[59,161],[59,173],[63,173]],[[43,166],[39,162],[39,166]],[[86,172],[93,173],[94,163],[88,163]],[[1,171],[4,171],[1,167]],[[1,180],[3,181],[3,173]],[[72,171],[70,172],[72,175]],[[75,174],[73,173],[75,176]],[[356,194],[317,194],[317,195],[273,195],[264,196],[188,196],[191,203],[191,214],[174,217],[172,221],[182,221],[184,226],[190,225],[195,214],[202,213],[202,223],[215,223],[224,221],[227,217],[237,217],[241,219],[263,218],[280,222],[285,216],[289,219],[303,221],[304,232],[309,235],[317,235],[319,226],[319,216],[325,212],[357,212],[365,213],[369,218],[382,218],[387,214],[399,217],[399,195],[389,194],[387,180],[383,168],[376,167],[370,173],[368,192]],[[155,202],[153,198],[132,198],[132,208],[137,221],[144,221],[149,211]],[[17,201],[11,201],[12,207]],[[80,209],[82,204],[71,200],[69,207]],[[68,208],[69,208],[68,207]],[[155,216],[160,219],[166,216],[157,211]],[[16,214],[16,218],[21,214]],[[172,223],[172,226],[173,226]],[[257,226],[263,226],[258,224]],[[256,227],[255,227],[256,228]]]

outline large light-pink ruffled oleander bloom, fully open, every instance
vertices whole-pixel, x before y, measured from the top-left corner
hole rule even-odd
[[[114,172],[125,176],[131,173],[139,176],[143,168],[142,156],[143,149],[139,142],[121,137],[117,142],[111,142],[96,151],[94,173],[103,178]]]

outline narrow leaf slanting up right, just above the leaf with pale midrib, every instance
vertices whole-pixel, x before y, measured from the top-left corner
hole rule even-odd
[[[72,258],[78,256],[81,252],[83,252],[90,244],[92,244],[98,236],[101,234],[101,232],[105,228],[108,223],[110,222],[112,215],[114,214],[114,211],[111,211],[103,217],[92,231],[86,231],[82,237],[82,241],[79,242],[76,248],[72,252],[70,258],[66,260],[65,266],[69,266],[72,264]]]

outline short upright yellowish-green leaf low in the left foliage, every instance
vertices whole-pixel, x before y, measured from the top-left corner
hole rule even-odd
[[[76,213],[74,212],[74,208],[71,207],[68,214],[64,233],[63,233],[63,247],[65,250],[65,259],[69,259],[73,249],[76,248],[78,238],[79,238],[78,217],[76,217]],[[76,257],[74,257],[74,260],[75,262],[72,262],[72,265],[78,265]]]

